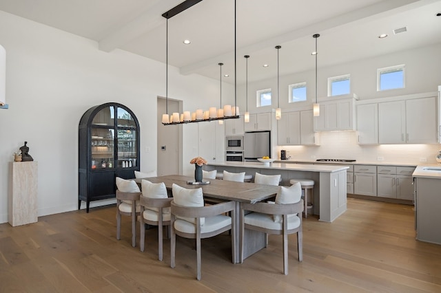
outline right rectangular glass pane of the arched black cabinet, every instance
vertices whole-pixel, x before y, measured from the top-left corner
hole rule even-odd
[[[119,119],[118,119],[119,120]],[[135,167],[136,153],[136,130],[135,129],[118,129],[118,167],[131,168]]]

